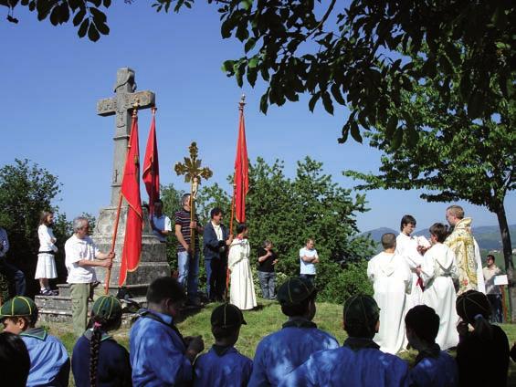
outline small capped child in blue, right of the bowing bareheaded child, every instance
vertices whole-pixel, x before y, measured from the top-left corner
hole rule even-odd
[[[195,361],[195,387],[247,386],[253,362],[234,347],[242,324],[246,321],[235,305],[224,304],[214,309],[211,326],[215,344]]]

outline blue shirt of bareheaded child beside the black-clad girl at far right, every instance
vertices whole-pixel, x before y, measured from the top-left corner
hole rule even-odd
[[[443,350],[439,350],[437,357],[426,356],[410,370],[410,385],[417,387],[458,386],[457,362]]]

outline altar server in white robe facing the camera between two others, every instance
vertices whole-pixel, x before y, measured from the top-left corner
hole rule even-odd
[[[412,285],[410,294],[406,298],[405,314],[408,310],[421,305],[423,297],[423,282],[417,275],[418,267],[423,263],[420,251],[430,247],[430,243],[424,236],[413,236],[416,228],[416,219],[412,215],[404,215],[401,218],[400,233],[396,237],[396,253],[404,256],[410,271],[412,272]]]

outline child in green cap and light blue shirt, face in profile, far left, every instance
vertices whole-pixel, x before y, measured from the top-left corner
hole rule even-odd
[[[19,335],[30,357],[27,386],[68,386],[70,361],[64,345],[42,328],[36,328],[37,306],[31,298],[17,296],[0,308],[4,331]]]

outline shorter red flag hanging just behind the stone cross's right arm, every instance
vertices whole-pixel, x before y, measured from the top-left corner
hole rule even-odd
[[[160,198],[160,164],[158,162],[158,142],[156,141],[156,109],[153,108],[151,131],[147,139],[145,158],[143,159],[142,179],[149,194],[149,209],[154,214],[154,202]]]

